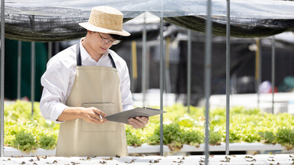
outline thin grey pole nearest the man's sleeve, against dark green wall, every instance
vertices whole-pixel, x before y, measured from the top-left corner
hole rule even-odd
[[[32,114],[34,113],[34,72],[35,72],[35,43],[31,43],[31,79],[30,79],[30,94],[32,102]]]

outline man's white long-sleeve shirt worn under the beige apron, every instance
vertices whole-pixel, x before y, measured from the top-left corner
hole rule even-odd
[[[112,55],[120,80],[120,93],[123,110],[134,108],[132,93],[130,91],[129,70],[127,63],[112,50],[107,50],[98,62],[87,53],[80,41],[81,60],[83,66],[112,67],[108,53]],[[48,61],[47,69],[41,77],[43,94],[40,100],[40,110],[43,117],[54,122],[67,107],[65,102],[72,91],[76,76],[76,45],[59,52]]]

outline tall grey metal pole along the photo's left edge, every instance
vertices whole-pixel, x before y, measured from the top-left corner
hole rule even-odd
[[[5,1],[1,0],[1,142],[0,157],[4,156],[4,61],[5,61]]]

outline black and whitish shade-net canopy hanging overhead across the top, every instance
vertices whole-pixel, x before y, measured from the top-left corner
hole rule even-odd
[[[150,12],[181,27],[204,32],[206,0],[6,0],[6,38],[21,41],[65,41],[85,35],[78,23],[87,21],[97,5],[110,5],[125,21]],[[231,0],[231,36],[271,36],[294,30],[294,1]],[[227,1],[213,0],[213,34],[226,34]]]

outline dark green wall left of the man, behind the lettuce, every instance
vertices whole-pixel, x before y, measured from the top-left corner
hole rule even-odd
[[[5,98],[17,98],[17,47],[18,41],[5,40]],[[22,42],[21,47],[21,98],[27,96],[30,99],[31,91],[31,44]],[[35,43],[36,70],[35,70],[35,101],[39,101],[42,94],[41,76],[45,72],[48,51],[45,43]]]

